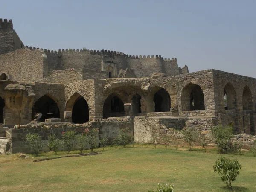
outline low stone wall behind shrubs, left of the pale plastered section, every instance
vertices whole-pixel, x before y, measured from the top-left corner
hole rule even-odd
[[[14,128],[9,129],[8,138],[10,140],[10,152],[31,152],[31,148],[26,142],[26,134],[29,133],[38,133],[42,137],[42,151],[49,151],[47,146],[49,134],[55,134],[56,137],[60,138],[62,132],[75,131],[77,134],[79,134],[83,133],[85,128],[99,128],[99,134],[106,135],[108,139],[115,138],[122,128],[127,130],[130,137],[133,136],[133,121],[132,119],[126,117],[115,119],[99,119],[97,121],[87,122],[84,124],[39,123],[15,125]]]

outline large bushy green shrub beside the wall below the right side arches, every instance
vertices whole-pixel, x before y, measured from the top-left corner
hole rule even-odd
[[[233,137],[232,125],[224,127],[223,125],[219,124],[212,127],[211,130],[215,143],[217,144],[221,154],[224,154],[228,150],[232,149],[232,143],[230,142],[230,139]]]

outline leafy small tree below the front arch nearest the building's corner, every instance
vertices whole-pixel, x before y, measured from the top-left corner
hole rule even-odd
[[[189,151],[192,151],[195,142],[198,141],[198,132],[193,128],[183,128],[181,133],[186,145],[189,147]]]

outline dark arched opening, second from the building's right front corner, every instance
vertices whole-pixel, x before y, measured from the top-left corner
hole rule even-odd
[[[154,112],[170,111],[171,98],[167,90],[160,89],[154,94]]]

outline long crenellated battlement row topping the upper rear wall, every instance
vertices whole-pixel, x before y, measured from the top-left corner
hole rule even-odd
[[[52,53],[52,54],[56,54],[56,55],[59,55],[59,54],[62,54],[64,52],[76,52],[76,53],[87,53],[87,54],[90,54],[90,55],[106,55],[106,56],[123,56],[125,58],[129,58],[129,59],[144,59],[144,58],[158,58],[158,59],[161,59],[163,60],[163,62],[171,62],[171,61],[174,61],[174,60],[177,60],[177,58],[163,58],[161,57],[161,55],[128,55],[128,54],[125,54],[125,53],[122,53],[122,52],[118,52],[118,51],[110,51],[110,50],[83,50],[83,49],[58,49],[58,51],[53,51],[53,50],[49,50],[49,49],[42,49],[42,48],[36,48],[36,47],[29,47],[29,46],[26,46],[26,48],[29,48],[30,50],[35,50],[35,49],[41,49],[43,50],[44,52],[47,52],[47,53]]]

